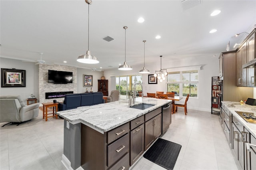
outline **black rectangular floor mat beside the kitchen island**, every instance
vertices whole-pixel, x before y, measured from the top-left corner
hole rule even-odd
[[[180,153],[180,149],[180,144],[158,138],[143,157],[159,166],[172,170]]]

